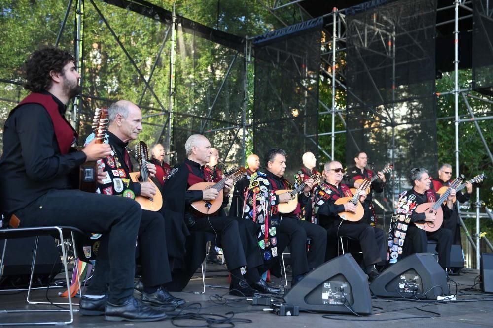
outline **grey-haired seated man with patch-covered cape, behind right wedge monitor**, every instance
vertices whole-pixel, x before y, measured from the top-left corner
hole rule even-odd
[[[438,263],[442,268],[448,268],[452,244],[450,230],[440,228],[435,232],[426,232],[414,224],[415,222],[433,222],[435,220],[435,212],[417,213],[414,209],[423,203],[436,202],[440,196],[431,189],[431,180],[426,169],[412,169],[409,173],[409,180],[413,188],[404,191],[399,196],[390,223],[388,235],[390,264],[396,263],[399,259],[413,253],[427,252],[428,239],[433,239],[437,241]],[[447,197],[447,204],[441,206],[444,220],[447,220],[452,213],[452,201],[455,194],[455,190],[452,189]]]

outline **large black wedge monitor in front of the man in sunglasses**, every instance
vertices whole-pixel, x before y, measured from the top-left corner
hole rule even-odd
[[[307,274],[284,301],[301,311],[371,314],[372,309],[368,277],[349,253]]]

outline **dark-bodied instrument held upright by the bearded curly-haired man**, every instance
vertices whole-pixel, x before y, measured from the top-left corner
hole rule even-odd
[[[91,127],[97,144],[104,143],[108,124],[108,109],[96,108]],[[98,162],[85,162],[79,166],[79,189],[86,192],[96,192],[96,188],[98,188]]]

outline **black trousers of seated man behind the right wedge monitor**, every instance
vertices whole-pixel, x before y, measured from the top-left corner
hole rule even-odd
[[[403,254],[426,253],[428,251],[428,239],[436,240],[437,242],[438,263],[440,266],[449,268],[452,234],[448,229],[440,228],[434,233],[426,233],[423,229],[410,224],[404,241]]]

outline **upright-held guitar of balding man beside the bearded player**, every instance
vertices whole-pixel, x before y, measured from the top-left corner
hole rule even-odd
[[[149,163],[149,154],[147,152],[147,145],[143,141],[135,145],[135,157],[139,162],[139,165],[141,166],[141,170],[138,172],[131,172],[130,179],[132,179],[133,182],[147,181],[154,184],[154,182],[149,179],[149,170],[147,169],[147,163]],[[157,212],[163,207],[163,196],[161,195],[161,191],[159,191],[159,188],[155,184],[154,187],[156,188],[156,194],[154,195],[154,197],[147,198],[144,196],[136,196],[135,200],[141,205],[142,209]]]

